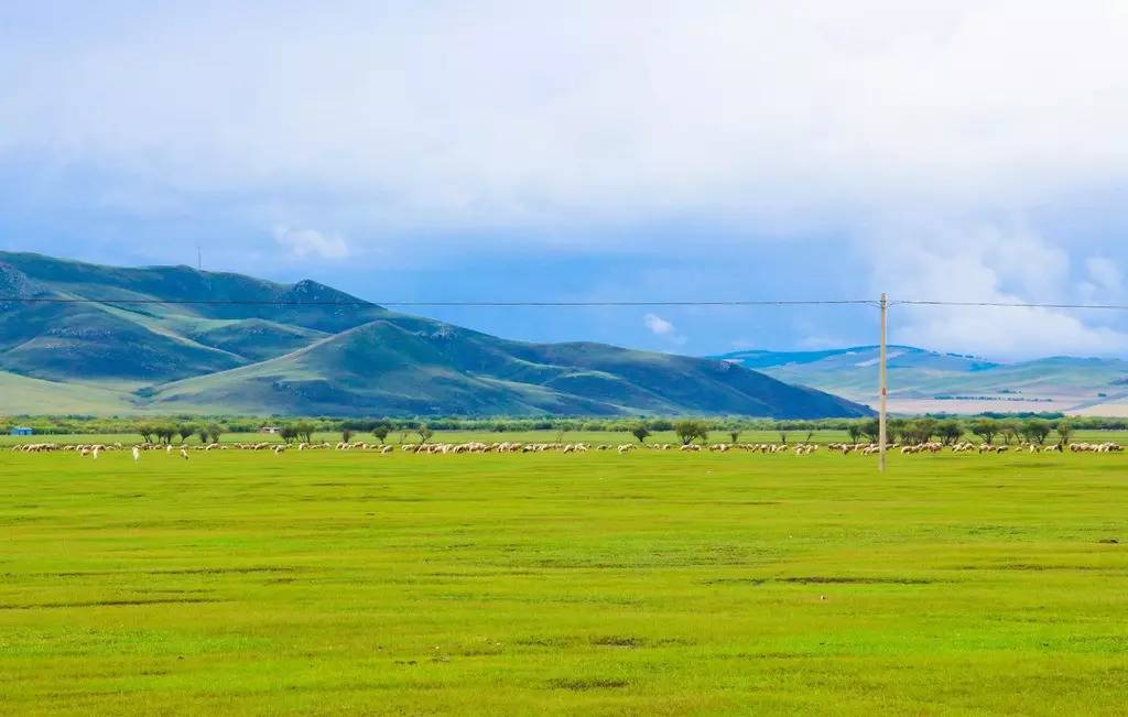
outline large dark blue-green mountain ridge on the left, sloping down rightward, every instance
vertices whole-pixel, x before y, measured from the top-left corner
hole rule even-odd
[[[41,300],[0,306],[9,413],[870,414],[728,361],[506,340],[310,281],[0,253],[5,298]]]

